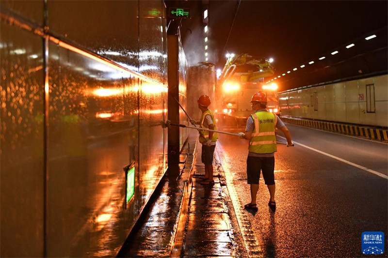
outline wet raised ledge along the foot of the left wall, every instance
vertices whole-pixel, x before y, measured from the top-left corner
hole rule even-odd
[[[189,136],[186,139],[179,153],[178,166],[173,168],[179,169],[179,173],[169,175],[167,169],[116,257],[180,255],[177,251],[182,249],[179,244],[181,246],[183,242],[188,214],[196,138]]]

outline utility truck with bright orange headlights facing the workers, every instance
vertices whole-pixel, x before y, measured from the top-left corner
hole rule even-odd
[[[277,85],[264,83],[274,69],[266,58],[255,59],[248,54],[229,56],[217,81],[215,95],[217,126],[231,131],[245,126],[252,114],[251,97],[255,92],[267,94],[267,109],[280,113],[276,98]]]

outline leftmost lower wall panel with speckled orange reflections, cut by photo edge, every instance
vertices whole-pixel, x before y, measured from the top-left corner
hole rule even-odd
[[[0,256],[41,257],[45,192],[42,38],[1,24],[0,46]]]

